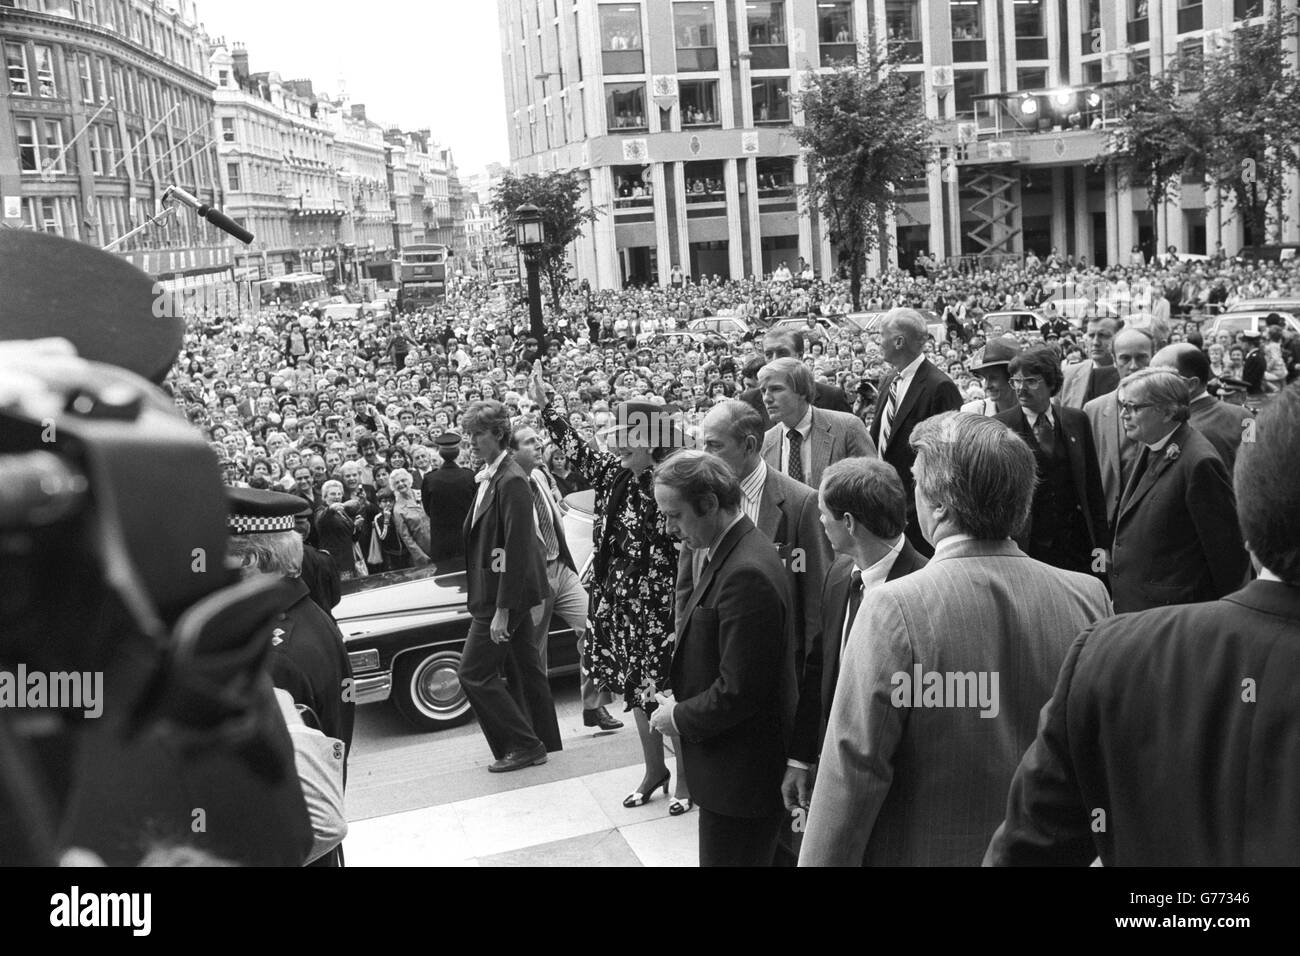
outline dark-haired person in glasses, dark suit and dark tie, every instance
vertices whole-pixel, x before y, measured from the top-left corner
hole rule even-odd
[[[1056,349],[1027,349],[1010,371],[1019,405],[993,418],[1024,438],[1037,462],[1030,522],[1015,541],[1052,567],[1101,574],[1110,525],[1088,416],[1052,401],[1061,389]]]

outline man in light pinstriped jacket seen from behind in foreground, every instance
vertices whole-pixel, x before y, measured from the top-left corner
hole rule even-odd
[[[1011,540],[1030,446],[1002,423],[913,432],[930,564],[872,588],[840,663],[801,866],[978,866],[1075,635],[1110,614],[1101,581]]]

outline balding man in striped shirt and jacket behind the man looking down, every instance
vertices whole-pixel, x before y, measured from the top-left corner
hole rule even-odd
[[[699,425],[703,450],[718,455],[740,480],[741,511],[776,545],[794,596],[794,659],[802,671],[805,641],[819,624],[822,587],[831,564],[831,542],[822,529],[816,492],[771,468],[759,455],[763,418],[748,403],[729,399]],[[694,587],[689,549],[677,567],[679,613]]]

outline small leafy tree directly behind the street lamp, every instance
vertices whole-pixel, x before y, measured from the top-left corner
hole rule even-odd
[[[493,187],[491,208],[497,215],[500,241],[515,245],[515,209],[532,203],[542,211],[546,241],[538,255],[538,268],[551,289],[551,304],[560,307],[560,290],[568,273],[568,246],[582,228],[597,217],[594,208],[582,207],[582,181],[572,169],[515,176],[506,173]]]

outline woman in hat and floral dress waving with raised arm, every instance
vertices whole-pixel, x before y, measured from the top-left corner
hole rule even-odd
[[[654,501],[653,471],[680,444],[670,441],[655,446],[653,440],[660,437],[662,431],[658,428],[629,434],[615,427],[610,429],[610,451],[598,451],[551,405],[541,363],[533,368],[529,393],[542,410],[542,423],[551,440],[563,450],[573,471],[595,489],[595,550],[586,580],[592,628],[582,666],[597,684],[621,693],[636,717],[646,770],[641,786],[623,805],[641,806],[655,790],[663,788],[667,793],[671,777],[664,763],[663,736],[650,730],[645,706],[646,701],[653,701],[653,691],[666,683],[672,663],[679,555],[677,542]],[[642,403],[632,406],[632,411],[655,408],[642,408]],[[616,421],[628,420],[627,414],[616,418]],[[672,804],[670,813],[673,816],[690,808],[680,753]]]

